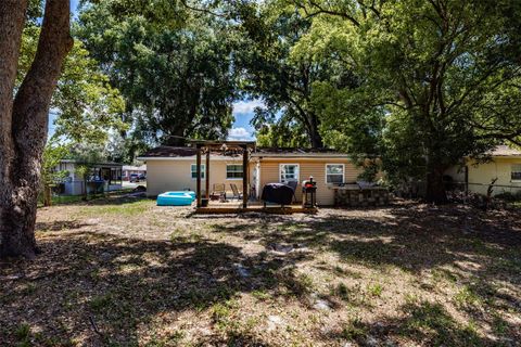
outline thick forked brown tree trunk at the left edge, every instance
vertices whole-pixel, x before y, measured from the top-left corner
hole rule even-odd
[[[35,60],[13,101],[27,1],[0,3],[0,257],[36,254],[35,222],[49,106],[73,46],[69,1],[48,0]]]

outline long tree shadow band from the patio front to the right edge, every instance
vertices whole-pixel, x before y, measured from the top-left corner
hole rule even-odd
[[[365,210],[364,210],[365,211]],[[445,265],[472,261],[490,264],[486,270],[511,273],[521,270],[521,215],[509,220],[478,215],[461,206],[395,206],[384,217],[346,217],[342,211],[294,220],[287,216],[238,217],[237,223],[216,223],[213,232],[231,234],[249,241],[257,239],[265,246],[274,243],[302,244],[336,253],[347,262],[369,266],[395,266],[419,273]],[[214,217],[212,217],[214,218]],[[513,268],[512,268],[513,267]],[[499,269],[503,268],[503,269]],[[472,270],[465,269],[467,272]],[[513,277],[511,280],[521,280]],[[517,282],[518,283],[518,282]],[[518,283],[521,284],[521,283]]]

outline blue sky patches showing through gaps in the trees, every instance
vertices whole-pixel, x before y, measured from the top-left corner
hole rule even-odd
[[[71,0],[71,10],[76,14],[79,0]],[[262,106],[263,103],[259,100],[242,100],[233,103],[233,117],[236,121],[229,132],[229,140],[253,140],[253,128],[250,125],[250,120],[253,117],[253,110],[257,106]],[[54,131],[53,121],[55,116],[49,115],[49,136]]]

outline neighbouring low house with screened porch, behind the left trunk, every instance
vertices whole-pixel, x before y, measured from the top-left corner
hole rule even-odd
[[[82,165],[74,159],[62,159],[56,165],[55,171],[66,171],[65,178],[62,180],[60,194],[63,195],[81,195],[90,193],[100,187],[104,192],[116,191],[122,189],[122,164],[117,163],[96,163],[89,164],[91,172],[88,175],[87,187],[84,178],[78,175],[77,168]]]

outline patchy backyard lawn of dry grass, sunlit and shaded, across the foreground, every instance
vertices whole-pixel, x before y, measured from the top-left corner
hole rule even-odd
[[[402,203],[192,216],[40,208],[0,262],[0,346],[519,346],[521,211]]]

